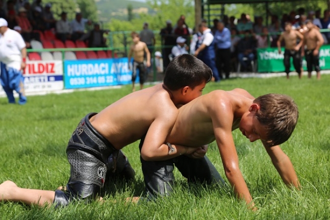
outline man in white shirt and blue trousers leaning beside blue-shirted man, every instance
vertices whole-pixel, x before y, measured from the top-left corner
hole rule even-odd
[[[215,65],[214,36],[205,22],[199,24],[198,30],[202,34],[201,44],[196,49],[194,56],[208,65],[213,72],[214,81],[220,82],[218,69]]]

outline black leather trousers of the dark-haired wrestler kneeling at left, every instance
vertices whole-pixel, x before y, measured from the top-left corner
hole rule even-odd
[[[104,187],[106,176],[134,179],[134,169],[125,155],[90,124],[89,118],[95,114],[86,115],[69,140],[66,153],[71,165],[70,179],[65,191],[55,191],[56,206],[68,205],[71,200],[94,199]]]

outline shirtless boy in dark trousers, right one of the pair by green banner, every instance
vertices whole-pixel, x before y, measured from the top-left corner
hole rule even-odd
[[[308,31],[303,35],[302,48],[306,50],[301,51],[301,56],[305,56],[307,62],[308,78],[312,77],[313,66],[316,71],[316,78],[321,79],[321,68],[319,64],[319,51],[324,43],[324,39],[320,31],[313,25],[311,20],[306,21]]]

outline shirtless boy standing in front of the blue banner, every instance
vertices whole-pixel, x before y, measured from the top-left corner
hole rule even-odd
[[[150,66],[150,52],[148,50],[147,44],[140,41],[140,36],[136,32],[132,32],[133,44],[130,47],[129,51],[129,67],[131,64],[131,57],[133,54],[133,68],[132,68],[132,91],[135,91],[135,79],[136,79],[136,70],[139,70],[140,77],[140,89],[143,89],[143,83],[145,81],[145,66],[144,66],[144,53],[146,53],[147,57],[147,67]]]

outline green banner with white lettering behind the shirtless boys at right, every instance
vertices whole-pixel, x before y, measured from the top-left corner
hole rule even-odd
[[[258,54],[258,72],[284,72],[283,64],[284,50],[278,54],[277,48],[259,48]],[[322,70],[330,69],[330,45],[323,45],[320,49],[320,67]],[[306,60],[302,58],[302,68],[307,70]],[[291,71],[295,71],[291,58]]]

